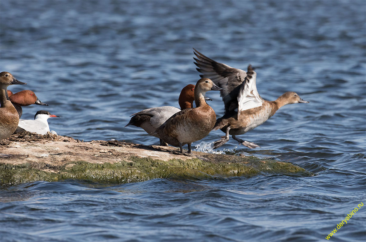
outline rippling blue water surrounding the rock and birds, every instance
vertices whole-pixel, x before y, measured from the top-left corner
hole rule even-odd
[[[366,204],[365,1],[0,1],[0,68],[49,106],[59,135],[158,144],[129,115],[178,106],[195,84],[193,49],[257,72],[291,104],[219,152],[291,162],[312,177],[260,175],[130,184],[67,180],[1,188],[3,241],[327,241]],[[224,105],[208,92],[218,116]],[[210,143],[211,132],[195,142]],[[1,149],[1,147],[0,147]],[[365,241],[360,207],[330,241]]]

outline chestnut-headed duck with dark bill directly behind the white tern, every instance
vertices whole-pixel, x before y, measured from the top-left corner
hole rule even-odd
[[[11,103],[14,105],[16,111],[18,112],[19,118],[23,114],[22,106],[28,106],[31,104],[38,104],[38,105],[46,105],[46,103],[42,103],[36,94],[30,90],[23,90],[17,93],[14,93],[9,97]]]

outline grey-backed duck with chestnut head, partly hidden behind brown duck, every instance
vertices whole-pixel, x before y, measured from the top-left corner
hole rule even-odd
[[[141,127],[148,134],[155,131],[158,127],[161,126],[161,124],[167,121],[172,115],[176,114],[181,110],[187,108],[193,108],[194,88],[195,85],[188,84],[182,89],[178,99],[180,109],[172,106],[147,108],[145,110],[132,114],[131,116],[133,117],[130,119],[130,122],[128,122],[128,124],[126,124],[126,126],[124,127],[127,127],[129,125]],[[207,97],[205,97],[205,99],[212,101],[212,99]],[[168,144],[164,142],[162,139],[160,139],[160,145],[168,146]]]

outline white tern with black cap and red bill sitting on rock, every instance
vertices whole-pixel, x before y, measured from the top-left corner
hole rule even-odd
[[[36,115],[34,115],[34,120],[19,119],[19,124],[18,124],[18,128],[16,128],[16,132],[26,130],[29,132],[42,134],[42,135],[47,134],[47,132],[49,132],[49,126],[48,126],[47,119],[49,119],[51,117],[60,118],[60,116],[50,114],[49,112],[47,112],[45,110],[40,110],[40,111],[36,112]],[[55,132],[55,131],[53,131],[53,132]]]

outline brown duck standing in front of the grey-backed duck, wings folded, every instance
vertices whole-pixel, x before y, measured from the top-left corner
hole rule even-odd
[[[199,79],[194,89],[196,107],[177,112],[150,135],[163,139],[169,145],[178,146],[181,154],[194,156],[191,143],[206,137],[216,123],[215,111],[205,101],[206,92],[211,90],[224,91],[208,78]],[[188,153],[184,153],[182,147],[186,144]]]

